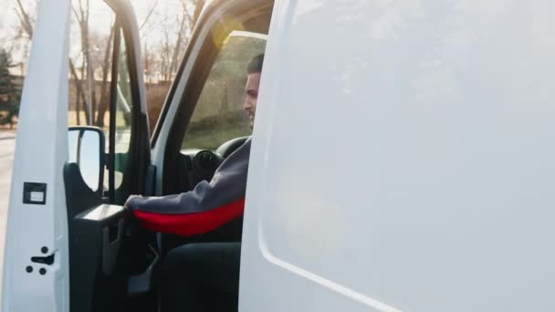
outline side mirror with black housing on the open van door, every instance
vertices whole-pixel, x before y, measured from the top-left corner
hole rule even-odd
[[[103,192],[105,136],[98,127],[69,127],[68,162],[79,166],[83,180],[93,192]]]

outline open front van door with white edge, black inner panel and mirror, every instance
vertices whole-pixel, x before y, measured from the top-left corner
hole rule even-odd
[[[141,45],[129,2],[107,4],[116,16],[110,129],[69,131],[71,2],[40,4],[17,130],[2,311],[150,308],[141,299],[152,294],[158,257],[121,206],[153,188]]]

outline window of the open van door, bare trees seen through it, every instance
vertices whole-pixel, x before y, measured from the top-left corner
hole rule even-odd
[[[127,34],[116,22],[108,5],[100,5],[90,14],[91,20],[101,22],[94,29],[94,36],[98,38],[89,43],[89,55],[81,50],[84,43],[81,42],[79,23],[73,23],[70,32],[68,126],[91,126],[103,130],[105,151],[113,153],[110,155],[113,160],[107,163],[113,161],[113,167],[110,170],[105,168],[101,193],[105,197],[111,193],[112,200],[122,203],[130,188],[128,180],[131,177],[125,177],[131,167],[132,111],[136,104],[133,103],[136,99],[133,98],[128,57],[130,48],[126,42]],[[110,140],[110,130],[113,131],[113,140]],[[111,190],[110,178],[113,182]]]

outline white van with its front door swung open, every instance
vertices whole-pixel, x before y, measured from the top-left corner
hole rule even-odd
[[[265,49],[240,311],[555,311],[555,3],[216,1],[152,133],[131,5],[108,4],[110,129],[69,135],[70,1],[40,5],[3,312],[156,310],[167,237],[120,205],[190,190],[243,140],[186,133],[215,62]]]

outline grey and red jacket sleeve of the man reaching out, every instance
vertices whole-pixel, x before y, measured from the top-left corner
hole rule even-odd
[[[125,205],[154,232],[190,236],[213,231],[243,215],[249,154],[250,139],[225,159],[211,182],[181,194],[131,197]]]

